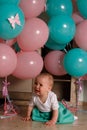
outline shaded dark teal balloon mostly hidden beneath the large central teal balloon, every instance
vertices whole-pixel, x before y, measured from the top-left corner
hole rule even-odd
[[[63,50],[66,47],[66,44],[58,44],[49,37],[45,46],[52,50]]]

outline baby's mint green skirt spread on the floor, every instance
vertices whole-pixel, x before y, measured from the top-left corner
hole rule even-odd
[[[56,124],[70,124],[74,122],[74,115],[59,102],[58,120]],[[32,111],[32,120],[38,122],[47,122],[51,119],[52,112],[41,112],[36,107]]]

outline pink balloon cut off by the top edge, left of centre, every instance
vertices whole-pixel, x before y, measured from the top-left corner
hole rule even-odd
[[[21,0],[19,6],[25,18],[37,17],[43,12],[45,0]]]

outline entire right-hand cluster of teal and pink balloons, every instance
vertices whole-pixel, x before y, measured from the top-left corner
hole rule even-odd
[[[44,62],[46,70],[53,75],[68,73],[80,77],[87,74],[87,0],[74,2],[78,12],[73,12],[71,0],[46,2],[50,34],[45,46],[53,51],[45,56]],[[66,45],[72,40],[76,46],[67,51]]]

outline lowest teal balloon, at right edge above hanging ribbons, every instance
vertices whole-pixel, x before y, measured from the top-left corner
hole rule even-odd
[[[87,73],[87,52],[80,48],[68,51],[63,59],[63,66],[68,74],[80,77]]]

